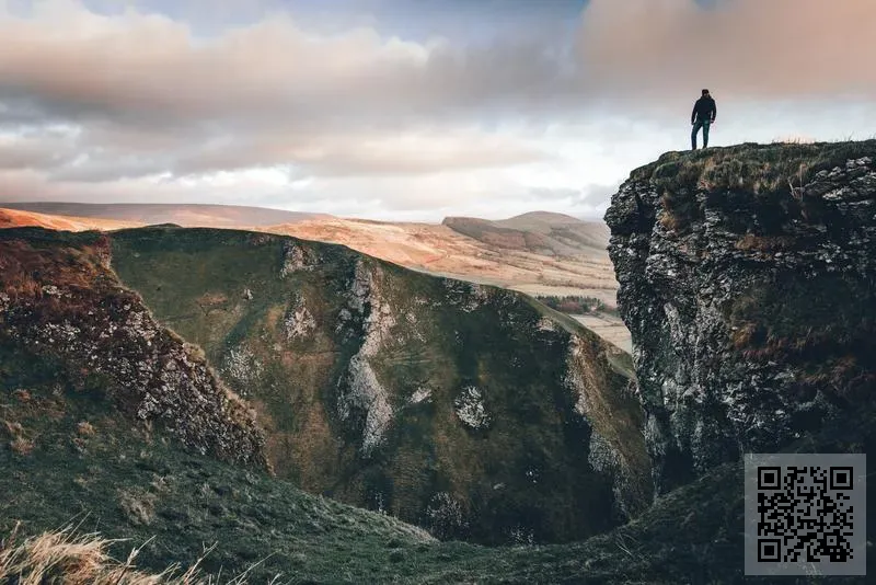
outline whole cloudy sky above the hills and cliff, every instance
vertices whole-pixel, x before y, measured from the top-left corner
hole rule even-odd
[[[876,137],[873,0],[0,0],[0,204],[599,218],[690,148]]]

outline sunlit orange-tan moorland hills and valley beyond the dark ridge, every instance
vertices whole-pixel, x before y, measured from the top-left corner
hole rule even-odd
[[[85,217],[3,209],[4,205],[57,209]],[[108,219],[107,216],[139,219]],[[273,220],[286,217],[291,219],[273,223]],[[258,221],[260,218],[264,218],[266,223],[246,223]],[[308,217],[308,214],[221,205],[0,204],[0,229],[43,227],[64,231],[111,231],[145,225],[250,229],[339,243],[439,276],[502,286],[533,296],[595,297],[610,307],[614,306],[618,282],[606,250],[608,239],[603,225],[546,211],[533,211],[502,221],[457,219],[460,219],[457,222],[460,230],[437,223],[345,219],[330,215]],[[485,227],[465,230],[466,226],[476,227],[479,221]],[[491,236],[477,239],[464,233],[470,231],[477,236],[485,230],[504,230],[518,239],[538,240],[543,252],[532,252],[526,245],[508,248],[503,238]],[[575,240],[574,245],[564,246],[558,241],[563,234],[567,236],[567,240]],[[564,255],[557,255],[561,248]],[[630,332],[618,319],[609,323],[602,320],[596,324],[588,322],[587,326],[595,326],[601,335],[622,348],[630,347]]]

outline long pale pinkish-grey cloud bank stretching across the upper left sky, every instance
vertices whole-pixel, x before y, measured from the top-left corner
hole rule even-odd
[[[275,13],[203,39],[132,9],[107,16],[71,0],[37,7],[32,18],[0,20],[0,91],[73,118],[338,128],[541,103],[563,85],[538,35],[465,50],[368,27],[318,35]]]

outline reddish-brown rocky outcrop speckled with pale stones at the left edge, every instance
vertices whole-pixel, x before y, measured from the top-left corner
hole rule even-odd
[[[117,408],[187,447],[264,467],[254,415],[203,352],[158,324],[106,267],[107,248],[0,240],[0,335],[57,358],[73,379],[102,377]]]

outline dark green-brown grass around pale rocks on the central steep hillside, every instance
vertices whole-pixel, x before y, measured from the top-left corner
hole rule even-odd
[[[466,526],[452,536],[480,542],[511,539],[521,523],[540,541],[564,541],[619,521],[599,504],[611,498],[606,485],[591,493],[580,487],[596,479],[587,463],[587,431],[564,383],[569,340],[583,336],[596,347],[590,357],[598,389],[620,395],[629,369],[601,351],[607,344],[523,295],[485,287],[486,297],[463,309],[475,300],[468,283],[342,246],[299,242],[302,257],[318,262],[279,278],[284,249],[293,241],[264,237],[254,244],[246,232],[169,228],[113,236],[113,267],[123,282],[142,294],[161,322],[204,347],[231,388],[255,405],[279,477],[424,526],[431,526],[433,497],[447,492],[466,515]],[[360,261],[396,321],[369,357],[394,411],[385,440],[369,457],[359,452],[365,413],[337,416],[345,372],[364,341],[364,322],[343,325],[338,318]],[[289,341],[283,321],[301,300],[316,326],[308,339]],[[537,332],[543,317],[557,331]],[[260,364],[250,379],[229,374],[232,351]],[[485,392],[496,421],[488,431],[468,429],[454,413],[453,400],[468,385]],[[424,387],[430,402],[408,404]],[[623,402],[623,409],[632,405]],[[545,475],[544,484],[533,484],[526,475],[532,466],[550,481]],[[505,491],[494,490],[497,484]]]

